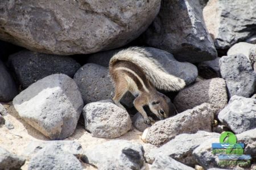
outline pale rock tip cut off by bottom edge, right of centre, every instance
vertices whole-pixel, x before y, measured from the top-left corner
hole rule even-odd
[[[167,155],[158,155],[156,156],[156,159],[152,166],[150,167],[150,170],[158,170],[158,169],[169,169],[169,170],[194,170],[194,168],[188,167],[187,165],[184,165],[180,162],[177,162],[175,159],[172,159],[171,157]]]

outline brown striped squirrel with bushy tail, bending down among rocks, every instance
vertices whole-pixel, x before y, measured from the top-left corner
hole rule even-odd
[[[150,53],[139,47],[130,47],[114,54],[109,62],[109,73],[115,87],[114,103],[125,109],[120,100],[130,91],[136,97],[134,107],[142,114],[146,124],[150,124],[150,119],[143,109],[144,105],[148,105],[160,120],[169,116],[171,100],[156,88],[177,91],[185,86],[183,79],[168,74]]]

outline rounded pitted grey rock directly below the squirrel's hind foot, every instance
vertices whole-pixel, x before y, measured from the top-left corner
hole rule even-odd
[[[131,129],[129,114],[112,100],[86,104],[82,114],[85,129],[90,131],[93,137],[117,138]]]

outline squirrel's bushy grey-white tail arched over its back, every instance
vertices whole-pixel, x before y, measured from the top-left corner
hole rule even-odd
[[[143,48],[130,47],[115,54],[109,62],[109,67],[118,61],[130,61],[142,68],[146,78],[159,90],[176,91],[185,86],[183,79],[170,75],[151,54]]]

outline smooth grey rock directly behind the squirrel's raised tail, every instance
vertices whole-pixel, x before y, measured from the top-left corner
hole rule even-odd
[[[98,65],[108,67],[110,58],[112,58],[115,53],[122,49],[92,54],[89,56],[88,62],[97,63]],[[198,74],[196,66],[192,63],[179,62],[171,53],[164,50],[151,47],[144,47],[144,49],[147,50],[147,52],[149,52],[153,58],[158,60],[163,65],[164,69],[168,71],[168,73],[184,79],[186,84],[190,84],[195,81]]]

